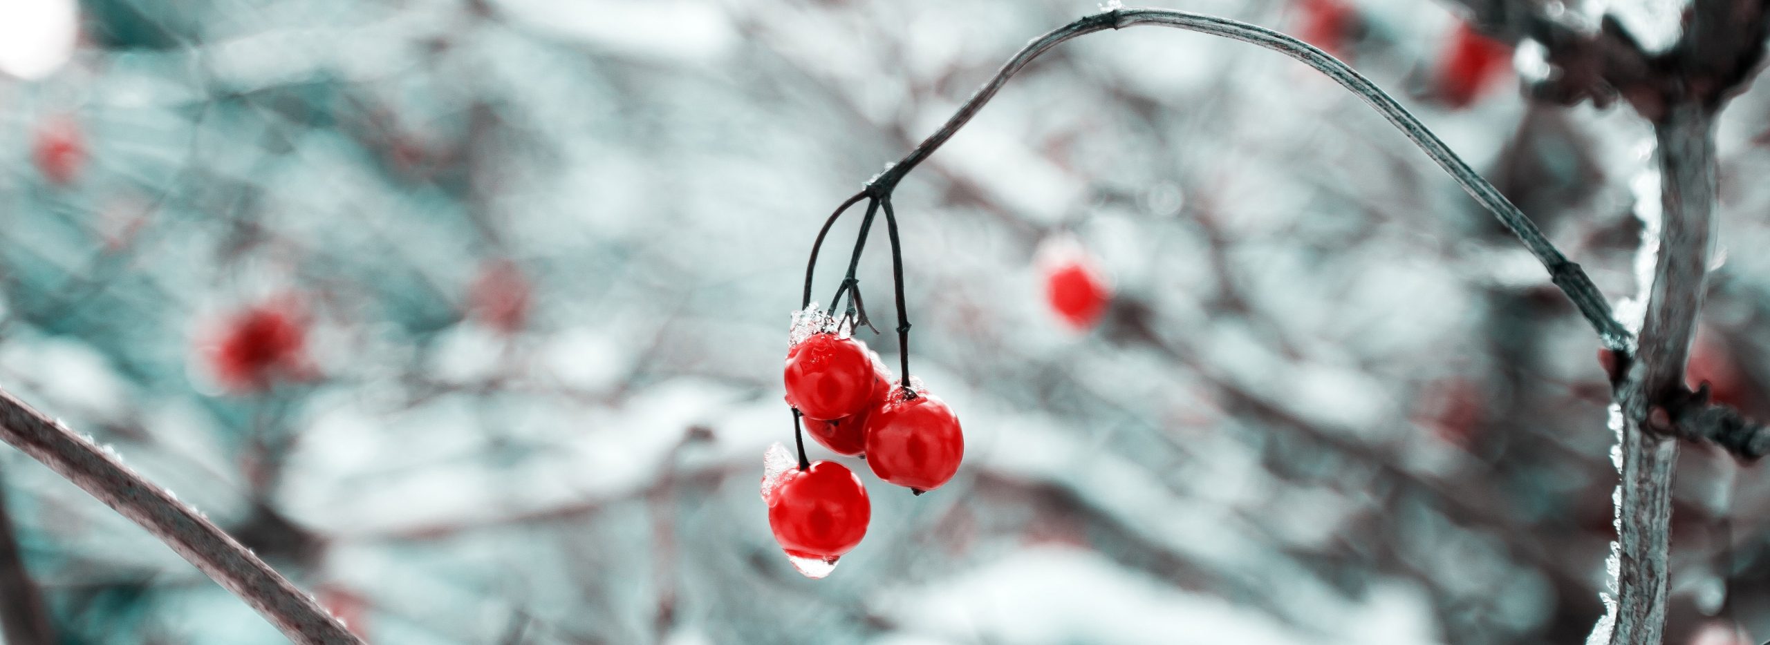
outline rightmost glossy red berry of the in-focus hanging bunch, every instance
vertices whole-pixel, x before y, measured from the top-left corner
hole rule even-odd
[[[867,419],[866,435],[873,474],[917,495],[945,484],[965,459],[959,417],[927,392],[912,398],[903,389],[892,389]]]

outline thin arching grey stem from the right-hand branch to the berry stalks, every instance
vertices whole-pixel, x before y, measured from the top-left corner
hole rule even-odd
[[[982,106],[989,102],[989,99],[995,97],[998,90],[1002,90],[1002,85],[1005,85],[1009,78],[1020,72],[1021,67],[1027,67],[1027,64],[1030,64],[1046,49],[1051,49],[1060,42],[1080,35],[1103,32],[1108,28],[1117,30],[1138,25],[1174,27],[1189,32],[1221,35],[1227,39],[1258,44],[1262,48],[1301,60],[1303,64],[1315,67],[1322,74],[1328,74],[1328,78],[1335,80],[1336,83],[1356,94],[1359,99],[1363,99],[1366,104],[1375,108],[1379,113],[1382,113],[1382,117],[1388,118],[1389,124],[1395,124],[1395,127],[1400,129],[1402,134],[1405,134],[1411,141],[1414,141],[1414,145],[1418,145],[1420,150],[1425,150],[1425,154],[1432,157],[1432,161],[1435,161],[1439,168],[1444,168],[1444,171],[1448,171],[1451,178],[1455,178],[1457,184],[1460,184],[1462,189],[1469,193],[1469,196],[1480,201],[1481,207],[1485,207],[1489,212],[1494,214],[1494,217],[1499,217],[1499,223],[1504,224],[1506,230],[1510,230],[1513,235],[1517,235],[1517,239],[1524,242],[1524,247],[1529,249],[1538,262],[1542,262],[1543,269],[1549,270],[1549,276],[1554,281],[1554,285],[1559,286],[1561,292],[1566,293],[1570,300],[1574,300],[1574,306],[1579,307],[1579,313],[1586,318],[1588,323],[1591,323],[1591,327],[1598,332],[1598,338],[1604,341],[1607,348],[1621,352],[1625,355],[1632,352],[1634,336],[1620,322],[1616,322],[1616,316],[1611,315],[1609,300],[1605,300],[1604,293],[1600,293],[1598,288],[1591,283],[1591,277],[1588,277],[1586,272],[1579,269],[1577,263],[1566,260],[1566,256],[1561,254],[1561,251],[1556,249],[1554,244],[1549,242],[1549,239],[1543,237],[1540,230],[1536,230],[1536,224],[1531,223],[1531,219],[1526,217],[1524,212],[1519,210],[1519,207],[1508,201],[1504,194],[1501,194],[1499,189],[1494,187],[1494,184],[1489,184],[1485,178],[1481,178],[1481,175],[1476,173],[1474,168],[1469,168],[1469,164],[1462,161],[1462,157],[1451,152],[1450,147],[1446,147],[1444,141],[1437,138],[1437,134],[1432,134],[1432,131],[1427,129],[1425,124],[1420,122],[1420,118],[1414,118],[1414,115],[1409,113],[1407,108],[1402,108],[1400,102],[1397,102],[1386,92],[1377,88],[1377,85],[1372,83],[1368,78],[1365,78],[1352,67],[1347,67],[1347,64],[1340,62],[1338,58],[1329,57],[1326,51],[1317,49],[1315,46],[1289,37],[1285,34],[1228,18],[1204,16],[1204,14],[1168,11],[1168,9],[1113,9],[1113,11],[1103,11],[1094,16],[1085,16],[1069,25],[1058,27],[1034,39],[1032,42],[1027,42],[1027,46],[1021,48],[1020,53],[1009,58],[1007,64],[1004,64],[1002,69],[997,71],[995,78],[984,83],[984,87],[981,87],[977,94],[974,94],[968,101],[965,101],[963,106],[959,106],[959,111],[954,113],[952,118],[949,118],[927,140],[917,145],[915,150],[910,150],[910,154],[904,156],[903,161],[899,161],[890,170],[881,173],[873,184],[869,184],[867,189],[876,191],[880,194],[890,193],[896,187],[896,184],[903,180],[903,177],[910,173],[912,168],[915,168],[915,164],[922,163],[922,159],[927,159],[927,156],[933,154],[936,148],[940,148],[940,145],[947,143],[947,140],[952,138],[952,134],[956,134],[959,127],[965,127],[965,124],[970,122],[972,117],[975,117],[977,111],[982,110]]]

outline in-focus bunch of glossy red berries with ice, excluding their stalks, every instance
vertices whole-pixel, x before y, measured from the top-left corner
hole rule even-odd
[[[965,458],[959,419],[919,382],[894,382],[878,353],[843,330],[816,306],[796,316],[784,369],[795,417],[818,444],[864,458],[890,484],[915,495],[940,488]],[[873,516],[860,477],[835,461],[811,463],[804,442],[796,468],[763,479],[763,500],[775,541],[812,578],[860,544]]]

